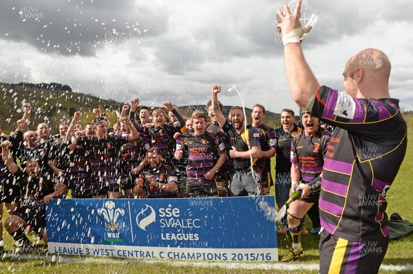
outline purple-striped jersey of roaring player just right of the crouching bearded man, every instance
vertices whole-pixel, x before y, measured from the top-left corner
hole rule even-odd
[[[187,181],[200,182],[204,175],[225,153],[224,142],[216,135],[204,133],[200,136],[184,134],[176,139],[176,149],[181,149],[187,159]]]

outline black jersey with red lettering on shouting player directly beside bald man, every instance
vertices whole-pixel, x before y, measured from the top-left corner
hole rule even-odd
[[[311,182],[323,172],[324,156],[331,133],[319,127],[315,136],[301,131],[291,142],[290,161],[299,165],[301,180]]]

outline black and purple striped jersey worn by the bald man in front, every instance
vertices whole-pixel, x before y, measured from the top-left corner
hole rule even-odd
[[[353,242],[387,237],[385,194],[407,146],[399,100],[352,98],[323,86],[308,110],[337,126],[324,161],[321,225]]]

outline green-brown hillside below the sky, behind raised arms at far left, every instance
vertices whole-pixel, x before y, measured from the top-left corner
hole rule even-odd
[[[6,84],[0,83],[3,103],[0,107],[0,127],[6,133],[16,128],[16,121],[23,116],[22,103],[32,105],[31,126],[47,123],[52,134],[57,134],[59,123],[70,123],[74,112],[81,111],[84,116],[81,123],[91,121],[94,116],[92,110],[100,108],[112,119],[111,115],[120,110],[123,103],[112,100],[103,100],[96,96],[72,92],[67,85],[59,84]],[[113,118],[112,118],[113,117]]]

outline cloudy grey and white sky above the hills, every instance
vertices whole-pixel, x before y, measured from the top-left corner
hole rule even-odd
[[[304,5],[306,5],[304,1]],[[1,0],[0,82],[62,83],[74,92],[160,107],[224,105],[298,112],[275,27],[283,1]],[[319,21],[302,43],[321,85],[343,90],[363,48],[392,63],[390,95],[413,110],[413,2],[313,0]],[[240,95],[231,89],[235,85]]]

